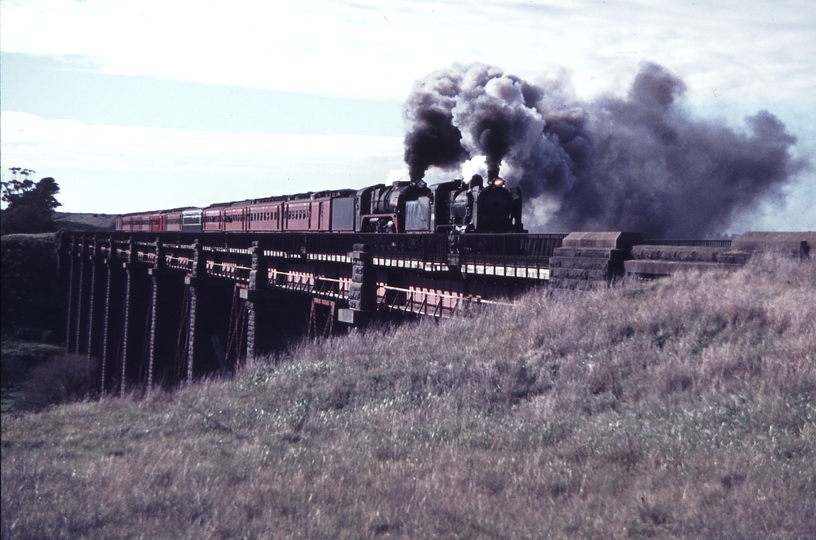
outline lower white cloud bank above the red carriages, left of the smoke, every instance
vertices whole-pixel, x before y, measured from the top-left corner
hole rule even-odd
[[[207,205],[384,182],[402,139],[86,125],[3,112],[2,169],[53,176],[72,212]],[[366,172],[363,172],[366,171]]]

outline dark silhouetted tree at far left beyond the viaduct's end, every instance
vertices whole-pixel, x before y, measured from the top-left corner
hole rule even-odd
[[[56,229],[52,214],[62,206],[54,197],[59,185],[53,178],[33,182],[28,176],[34,171],[13,167],[14,178],[2,182],[2,200],[8,204],[3,210],[2,234],[41,233]],[[22,177],[22,180],[18,178]]]

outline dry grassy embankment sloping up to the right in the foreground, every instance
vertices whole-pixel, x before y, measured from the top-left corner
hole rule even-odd
[[[816,266],[303,345],[4,416],[3,538],[814,538]]]

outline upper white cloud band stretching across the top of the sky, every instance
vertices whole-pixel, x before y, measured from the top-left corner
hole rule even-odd
[[[521,76],[572,71],[581,97],[661,63],[700,104],[813,103],[816,11],[803,0],[261,2],[20,0],[3,49],[93,59],[120,74],[330,93],[407,95],[454,61]]]

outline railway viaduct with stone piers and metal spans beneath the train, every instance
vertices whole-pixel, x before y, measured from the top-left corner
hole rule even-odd
[[[451,317],[512,300],[687,268],[734,268],[757,250],[808,257],[816,233],[644,240],[635,233],[376,235],[71,233],[66,347],[97,388],[172,387],[232,370],[307,333],[388,313]]]

